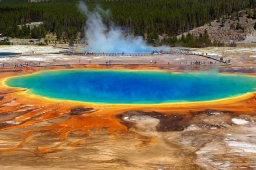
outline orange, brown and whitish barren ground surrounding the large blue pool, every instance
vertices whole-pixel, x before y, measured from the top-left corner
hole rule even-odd
[[[24,49],[26,46],[0,47],[1,52],[21,52]],[[53,50],[29,49],[37,52]],[[189,50],[231,59],[232,65],[180,65],[186,61],[208,61],[183,54],[144,57],[48,54],[0,58],[0,62],[6,66],[16,62],[65,65],[0,69],[0,78],[70,68],[164,69],[175,72],[214,69],[228,73],[256,73],[255,48]],[[90,59],[94,64],[88,64]],[[149,65],[151,59],[157,61],[157,65]],[[106,60],[111,60],[113,65],[103,65]],[[28,96],[20,89],[1,84],[0,169],[255,169],[255,113],[256,94],[193,105],[104,106]]]

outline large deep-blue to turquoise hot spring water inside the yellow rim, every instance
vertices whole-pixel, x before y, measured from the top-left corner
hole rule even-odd
[[[253,76],[153,71],[60,70],[6,83],[50,98],[127,104],[205,101],[256,91]]]

